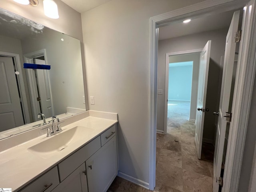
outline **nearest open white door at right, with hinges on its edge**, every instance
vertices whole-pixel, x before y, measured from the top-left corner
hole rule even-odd
[[[238,30],[239,11],[234,12],[228,34],[226,37],[226,48],[224,56],[222,85],[220,92],[220,107],[218,112],[218,126],[215,140],[214,162],[213,162],[213,192],[218,192],[220,172],[222,166],[222,156],[224,149],[224,140],[226,134],[228,107],[230,103],[230,91],[232,84],[232,75],[234,67],[234,58],[236,51],[235,35]],[[218,181],[219,180],[219,181]]]

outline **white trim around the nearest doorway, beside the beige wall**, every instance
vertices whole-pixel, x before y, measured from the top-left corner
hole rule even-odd
[[[160,14],[158,16],[154,16],[150,18],[150,113],[149,113],[149,130],[150,130],[150,138],[149,138],[149,189],[154,190],[154,187],[156,186],[156,107],[157,107],[157,54],[158,54],[158,27],[164,26],[168,22],[172,22],[174,20],[182,20],[187,17],[191,16],[198,16],[202,14],[209,14],[210,12],[216,13],[216,12],[224,12],[228,10],[234,10],[240,7],[243,7],[246,4],[245,1],[241,0],[206,0],[197,4],[193,4],[191,6],[186,6],[184,8],[180,8],[171,12],[167,12],[164,14]],[[254,38],[253,38],[254,39]],[[252,51],[252,50],[250,50]],[[255,52],[254,52],[255,54]],[[251,62],[251,64],[253,64]],[[252,70],[253,69],[253,70]],[[248,72],[250,74],[249,78],[250,84],[245,82],[244,89],[248,90],[250,92],[248,100],[251,100],[251,89],[252,89],[252,80],[254,80],[254,68],[250,69]],[[246,78],[246,76],[242,75],[241,78]],[[244,82],[244,81],[242,81]],[[238,89],[235,89],[236,92],[238,92]],[[238,94],[241,94],[240,92]],[[244,97],[248,95],[244,95]],[[236,97],[236,96],[235,96]],[[234,97],[234,100],[236,98]],[[247,101],[248,101],[247,100]],[[239,122],[244,121],[244,118],[248,118],[247,114],[244,114],[243,118],[238,119],[238,111],[239,108],[244,108],[244,105],[248,104],[244,102],[244,100],[240,100],[240,104],[237,107],[237,112],[234,114],[236,115],[234,117],[237,118]],[[244,105],[242,105],[244,104]],[[246,109],[242,110],[243,112],[249,112],[249,106],[247,106]],[[240,124],[240,123],[239,123]],[[238,124],[236,124],[238,126]],[[241,166],[241,160],[242,160],[242,149],[244,147],[244,137],[246,133],[246,126],[247,126],[247,120],[244,122],[244,127],[240,128],[240,132],[242,134],[232,134],[234,138],[234,142],[238,141],[238,138],[241,139],[240,143],[237,143],[237,146],[240,147],[241,153],[240,156],[235,156],[236,152],[234,151],[233,154],[229,156],[229,159],[232,159],[232,156],[234,160],[228,162],[227,169],[233,170],[232,172],[227,172],[226,174],[226,183],[224,183],[224,187],[231,188],[231,186],[237,186],[238,185],[238,179],[240,175],[240,166]],[[232,130],[232,129],[231,129]],[[239,140],[240,140],[239,139]],[[232,141],[231,141],[232,142]],[[232,148],[232,146],[229,146]],[[228,148],[228,150],[230,150]],[[235,161],[238,161],[239,166],[235,166]],[[232,175],[233,174],[233,175]],[[232,177],[233,178],[232,178]],[[227,182],[227,180],[230,180]],[[230,190],[225,190],[230,191]],[[235,192],[235,191],[234,191]]]

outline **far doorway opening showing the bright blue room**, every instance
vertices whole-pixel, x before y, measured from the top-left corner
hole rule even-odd
[[[161,42],[159,44],[161,47]],[[168,102],[164,106],[164,134],[177,120],[196,120],[200,51],[190,50],[185,54],[166,53],[165,100]]]

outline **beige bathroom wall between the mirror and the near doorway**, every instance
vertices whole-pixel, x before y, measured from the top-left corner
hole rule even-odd
[[[201,0],[112,0],[82,14],[92,110],[117,112],[119,170],[149,182],[150,17]]]

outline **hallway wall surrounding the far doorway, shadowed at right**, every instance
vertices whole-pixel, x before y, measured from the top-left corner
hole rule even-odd
[[[180,52],[186,50],[202,49],[208,40],[212,40],[210,52],[210,66],[208,76],[208,89],[206,95],[206,108],[210,111],[205,113],[204,139],[213,142],[215,135],[215,116],[212,112],[218,110],[219,94],[218,80],[221,69],[220,57],[224,55],[227,29],[202,32],[188,36],[159,41],[158,47],[158,88],[165,87],[165,54],[168,52]],[[158,95],[158,129],[164,127],[164,96]]]

